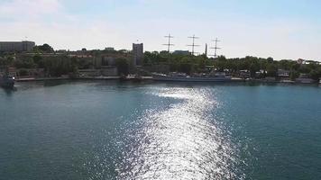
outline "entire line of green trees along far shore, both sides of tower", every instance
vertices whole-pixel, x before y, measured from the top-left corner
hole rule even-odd
[[[48,44],[36,46],[32,55],[0,54],[0,67],[16,67],[18,69],[43,68],[46,76],[61,76],[66,74],[77,74],[78,69],[94,68],[93,60],[77,58],[67,54],[56,54],[55,56],[44,56],[45,53],[54,53],[54,49]],[[90,55],[97,57],[104,53],[104,50],[90,50]],[[112,53],[126,54],[128,50],[115,50]],[[127,56],[124,56],[127,57]],[[131,59],[115,59],[116,67],[120,75],[127,75],[131,68]],[[228,69],[232,75],[237,75],[242,70],[250,72],[250,76],[257,77],[258,71],[263,72],[260,76],[277,76],[278,69],[288,70],[291,79],[297,78],[300,74],[306,74],[313,79],[321,77],[321,65],[316,61],[307,61],[307,64],[298,64],[291,59],[280,61],[273,58],[257,58],[247,56],[245,58],[225,58],[219,56],[216,59],[207,58],[205,55],[193,56],[190,54],[175,54],[166,51],[144,52],[143,67],[153,65],[166,65],[171,72],[183,72],[189,75],[194,73],[208,73],[216,69],[223,72]]]

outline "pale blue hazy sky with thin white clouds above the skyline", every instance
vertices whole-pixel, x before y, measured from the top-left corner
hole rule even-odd
[[[219,55],[321,61],[319,0],[0,0],[0,40],[54,49],[191,50],[188,36],[221,40]],[[208,49],[214,54],[214,49]]]

